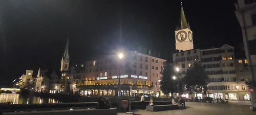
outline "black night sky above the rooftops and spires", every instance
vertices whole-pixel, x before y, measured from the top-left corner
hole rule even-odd
[[[227,43],[241,53],[242,33],[233,1],[184,0],[183,8],[195,48]],[[168,59],[175,50],[180,10],[179,0],[0,1],[0,86],[29,69],[59,70],[68,36],[72,63],[139,43]]]

